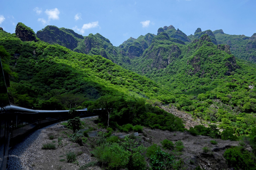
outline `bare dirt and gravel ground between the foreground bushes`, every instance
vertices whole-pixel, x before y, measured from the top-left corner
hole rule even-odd
[[[86,125],[97,128],[93,119],[86,120]],[[98,129],[104,131],[103,129]],[[91,157],[90,151],[92,150],[93,138],[88,138],[87,143],[83,146],[79,146],[77,143],[70,141],[67,134],[71,134],[72,131],[63,128],[63,125],[57,124],[46,128],[41,131],[39,136],[27,147],[27,150],[22,155],[15,157],[17,161],[18,169],[79,169],[81,165],[84,165],[90,161],[95,161],[94,157]],[[53,135],[54,139],[50,140],[49,136]],[[62,137],[62,143],[58,146],[58,137]],[[161,146],[163,139],[169,139],[175,143],[181,140],[185,146],[184,150],[179,155],[175,155],[177,160],[183,162],[184,169],[194,169],[196,166],[200,166],[204,169],[230,169],[225,163],[223,153],[225,148],[230,146],[237,146],[238,142],[222,141],[221,139],[212,139],[205,136],[192,136],[186,131],[182,132],[169,132],[157,129],[144,128],[143,133],[136,139],[139,144],[146,147],[151,146],[153,143]],[[217,145],[212,145],[211,140],[216,140]],[[53,142],[55,141],[55,142]],[[56,150],[42,150],[43,143],[55,143],[58,147]],[[203,147],[208,147],[209,152],[203,152]],[[69,151],[75,152],[77,160],[75,163],[67,163],[66,153]],[[27,160],[24,162],[24,159]],[[63,162],[62,162],[63,161]],[[16,169],[16,168],[15,168]],[[98,166],[93,166],[88,169],[101,169]]]

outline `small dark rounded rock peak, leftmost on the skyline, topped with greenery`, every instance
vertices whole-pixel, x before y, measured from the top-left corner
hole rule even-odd
[[[21,41],[38,41],[33,29],[27,27],[21,22],[16,25],[15,34],[19,39],[21,39]]]

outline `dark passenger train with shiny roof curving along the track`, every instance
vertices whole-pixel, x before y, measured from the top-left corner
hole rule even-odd
[[[0,58],[1,63],[1,58]],[[11,105],[7,93],[2,63],[0,68],[0,170],[6,170],[12,141],[28,131],[47,124],[69,119],[69,110],[33,110]],[[77,110],[76,116],[96,116],[87,109]]]

